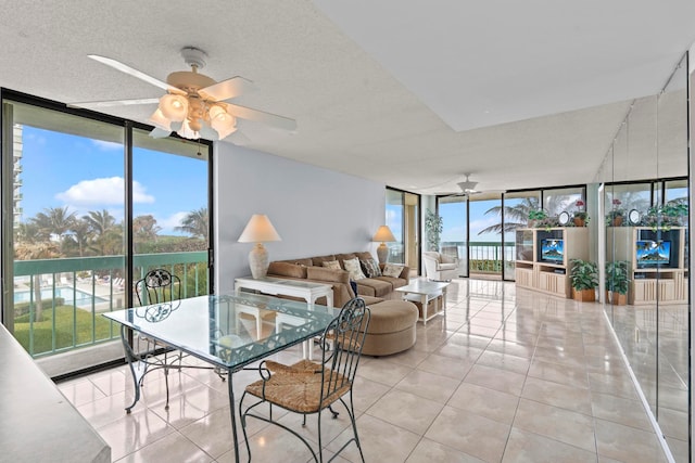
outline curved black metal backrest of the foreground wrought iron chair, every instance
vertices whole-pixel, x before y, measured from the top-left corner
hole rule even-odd
[[[369,308],[355,297],[341,309],[321,336],[324,370],[321,403],[332,403],[351,387],[369,326]],[[323,408],[323,406],[321,406]]]

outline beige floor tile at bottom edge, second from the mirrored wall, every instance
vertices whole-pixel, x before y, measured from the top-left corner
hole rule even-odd
[[[502,462],[595,463],[596,453],[514,427]]]

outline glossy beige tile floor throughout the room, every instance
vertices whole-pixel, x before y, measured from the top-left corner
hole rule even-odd
[[[400,355],[364,357],[355,384],[367,462],[666,462],[598,304],[458,280],[446,317],[424,326]],[[300,348],[280,361],[300,357]],[[237,397],[256,373],[233,377]],[[227,384],[206,370],[146,378],[131,414],[126,368],[59,384],[112,448],[116,462],[232,462]],[[325,420],[327,453],[349,433]],[[296,416],[286,415],[296,425]],[[303,432],[315,434],[316,421]],[[254,462],[307,462],[288,433],[251,422]],[[242,453],[242,461],[245,454]],[[357,462],[354,445],[337,459]]]

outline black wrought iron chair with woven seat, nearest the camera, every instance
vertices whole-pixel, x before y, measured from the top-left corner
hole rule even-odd
[[[285,365],[265,360],[260,364],[258,373],[261,380],[247,386],[239,402],[239,415],[241,416],[249,461],[251,461],[251,447],[249,445],[249,436],[247,436],[247,419],[253,416],[292,433],[304,442],[316,462],[323,462],[321,412],[330,409],[332,417],[337,419],[338,413],[332,410],[331,406],[338,401],[348,411],[353,437],[336,452],[336,455],[348,447],[350,442],[354,441],[359,450],[362,461],[365,461],[359,438],[357,437],[352,387],[368,324],[369,309],[362,298],[354,298],[343,306],[340,314],[324,331],[320,337],[321,363],[301,360],[292,365]],[[345,401],[346,396],[348,401]],[[244,410],[244,400],[247,398],[258,400],[248,406]],[[255,408],[263,403],[268,403],[270,407],[268,416],[255,412]],[[302,414],[302,426],[306,425],[306,415],[317,414],[318,454],[300,433],[273,420],[273,406]]]

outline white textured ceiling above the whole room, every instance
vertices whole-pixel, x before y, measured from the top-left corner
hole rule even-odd
[[[164,80],[194,46],[204,74],[256,83],[235,103],[298,121],[295,133],[242,123],[236,143],[420,193],[454,192],[465,172],[485,191],[591,182],[632,100],[658,93],[695,41],[692,0],[0,0],[0,87],[66,103],[156,98],[87,55]],[[152,111],[105,112],[146,121]]]

